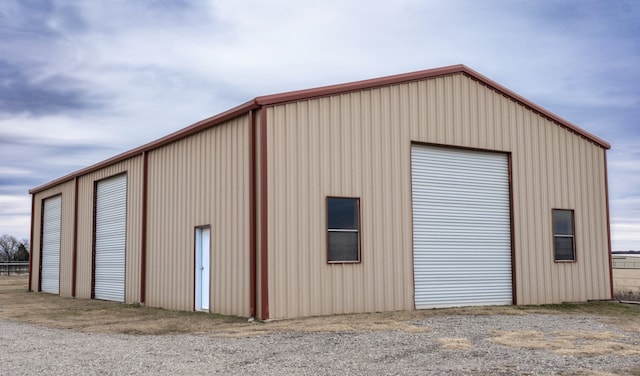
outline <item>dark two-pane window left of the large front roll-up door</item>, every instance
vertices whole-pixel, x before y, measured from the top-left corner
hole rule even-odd
[[[359,199],[327,197],[327,231],[329,262],[359,262]]]

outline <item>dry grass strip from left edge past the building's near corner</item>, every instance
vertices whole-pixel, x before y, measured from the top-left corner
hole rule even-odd
[[[82,332],[130,334],[207,333],[236,337],[280,331],[349,332],[429,329],[408,323],[399,313],[342,315],[249,322],[246,318],[183,312],[101,300],[63,298],[27,291],[26,276],[0,277],[0,318]],[[404,318],[410,318],[406,315]]]

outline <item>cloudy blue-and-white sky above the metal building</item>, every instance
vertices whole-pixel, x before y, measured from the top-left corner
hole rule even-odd
[[[28,189],[256,96],[465,64],[609,141],[640,249],[640,2],[2,0],[0,235]]]

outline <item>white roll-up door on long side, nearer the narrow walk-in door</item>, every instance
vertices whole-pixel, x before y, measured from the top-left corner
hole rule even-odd
[[[94,297],[124,302],[127,235],[127,176],[99,181],[96,187]]]

